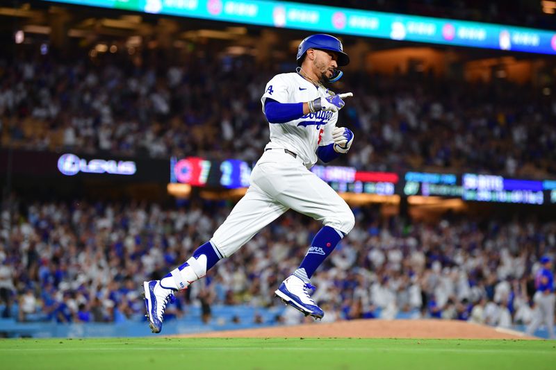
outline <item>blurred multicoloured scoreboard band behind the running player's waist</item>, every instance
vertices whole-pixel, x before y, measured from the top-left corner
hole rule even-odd
[[[189,157],[170,160],[170,183],[199,187],[248,187],[254,164],[243,160],[222,161]],[[336,192],[354,194],[440,196],[464,201],[555,204],[556,180],[525,180],[484,174],[434,172],[358,171],[354,167],[320,166],[311,172]]]

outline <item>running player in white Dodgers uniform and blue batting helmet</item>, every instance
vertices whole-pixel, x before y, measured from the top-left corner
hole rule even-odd
[[[143,283],[153,333],[161,331],[164,310],[174,292],[205,276],[216,262],[234,254],[289,209],[322,221],[323,227],[300,267],[275,294],[305,315],[322,319],[324,312],[309,295],[309,289],[315,289],[310,279],[352,230],[355,219],[345,201],[309,169],[318,158],[329,162],[352,145],[352,131],[336,126],[343,99],[352,94],[336,95],[325,87],[341,78],[338,67],[349,62],[336,37],[311,35],[297,50],[296,72],[278,74],[268,82],[261,103],[270,125],[270,142],[252,171],[245,196],[191,258],[161,280]]]

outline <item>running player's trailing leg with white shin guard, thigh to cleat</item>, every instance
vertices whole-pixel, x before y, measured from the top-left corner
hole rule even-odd
[[[186,289],[195,280],[205,276],[206,271],[220,259],[232,255],[286,210],[287,207],[273,201],[253,185],[216,230],[213,238],[199,246],[191,258],[161,280],[143,283],[147,318],[152,332],[161,331],[164,310],[168,301],[173,300],[174,292]]]

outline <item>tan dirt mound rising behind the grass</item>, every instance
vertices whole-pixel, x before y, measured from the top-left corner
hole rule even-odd
[[[538,339],[514,330],[497,329],[465,321],[448,320],[353,320],[311,323],[251,330],[229,330],[179,337],[350,337],[436,339]]]

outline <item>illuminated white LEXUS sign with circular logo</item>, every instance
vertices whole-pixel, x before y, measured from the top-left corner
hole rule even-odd
[[[85,174],[134,175],[137,172],[135,162],[129,160],[86,160],[75,154],[66,153],[58,158],[58,170],[65,176],[74,176],[79,172]]]

